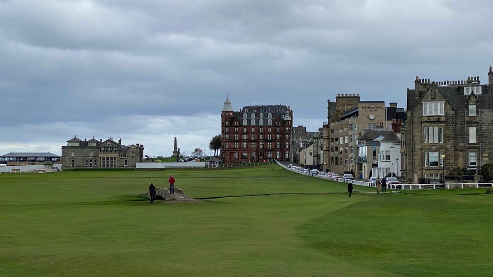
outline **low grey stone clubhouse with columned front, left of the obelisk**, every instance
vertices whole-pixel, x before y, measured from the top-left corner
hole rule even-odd
[[[62,163],[64,168],[117,168],[135,167],[142,162],[144,146],[141,144],[122,145],[109,138],[105,141],[81,140],[74,136],[62,146]]]

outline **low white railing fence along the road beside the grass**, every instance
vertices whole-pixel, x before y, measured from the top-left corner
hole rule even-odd
[[[310,175],[309,173],[295,170],[292,168],[289,168],[285,165],[283,165],[280,162],[277,162],[278,165],[283,167],[286,170],[296,172],[298,174],[302,174],[305,176]],[[368,187],[376,187],[377,185],[372,182],[366,182],[366,181],[358,181],[358,180],[349,180],[349,179],[342,179],[342,178],[333,178],[333,177],[327,177],[327,176],[320,176],[320,175],[312,175],[315,178],[319,179],[325,179],[325,180],[330,180],[334,182],[340,182],[340,183],[352,183],[353,185],[362,185],[362,186],[368,186]],[[408,190],[413,190],[413,189],[443,189],[444,185],[443,184],[387,184],[387,187],[389,189],[408,189]],[[447,189],[453,189],[453,188],[479,188],[479,187],[493,187],[493,183],[451,183],[451,184],[445,184],[445,188]]]

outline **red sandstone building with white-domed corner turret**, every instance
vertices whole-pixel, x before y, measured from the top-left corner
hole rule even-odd
[[[289,161],[292,118],[289,106],[245,106],[235,112],[226,99],[221,113],[222,161]]]

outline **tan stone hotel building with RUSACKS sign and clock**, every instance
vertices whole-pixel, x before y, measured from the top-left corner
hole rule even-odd
[[[405,120],[406,112],[397,103],[386,107],[385,101],[360,101],[358,93],[336,95],[327,100],[327,122],[323,124],[322,170],[338,174],[364,171],[357,163],[357,138],[368,130],[391,128],[393,120]]]

